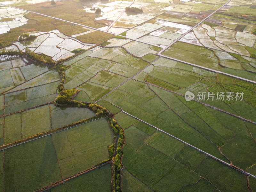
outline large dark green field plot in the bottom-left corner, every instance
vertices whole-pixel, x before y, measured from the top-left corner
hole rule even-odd
[[[28,192],[61,180],[52,137],[4,150],[5,190]]]

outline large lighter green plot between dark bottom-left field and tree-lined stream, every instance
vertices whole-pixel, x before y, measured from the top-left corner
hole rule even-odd
[[[84,171],[105,159],[113,132],[104,119],[78,125],[52,135],[64,178]]]

